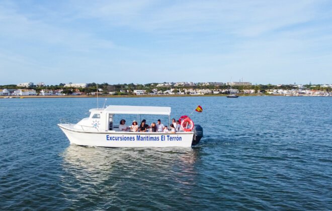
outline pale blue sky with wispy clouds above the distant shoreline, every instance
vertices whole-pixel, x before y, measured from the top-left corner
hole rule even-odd
[[[0,84],[332,83],[332,2],[0,1]]]

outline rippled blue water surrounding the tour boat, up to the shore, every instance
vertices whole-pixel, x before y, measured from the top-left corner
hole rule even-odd
[[[200,104],[191,117],[204,138],[187,149],[70,146],[56,124],[86,117],[96,99],[0,99],[0,209],[332,209],[332,97],[111,103],[171,106],[174,118]]]

